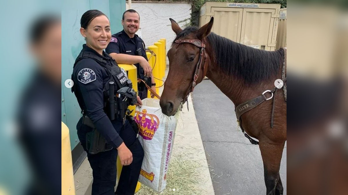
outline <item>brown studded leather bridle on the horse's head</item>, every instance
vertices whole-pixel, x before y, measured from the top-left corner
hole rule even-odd
[[[205,52],[205,44],[204,44],[204,40],[203,42],[197,39],[194,40],[176,40],[175,41],[176,44],[180,44],[180,43],[191,43],[193,45],[195,45],[196,47],[200,48],[199,51],[199,60],[196,64],[196,68],[195,68],[195,74],[193,75],[193,81],[192,84],[188,90],[188,93],[185,96],[185,99],[181,102],[182,104],[185,103],[190,95],[190,93],[193,91],[193,88],[195,88],[195,86],[200,83],[205,75],[207,74],[207,69],[208,69],[208,63],[206,63],[207,59],[208,59],[208,55]],[[203,56],[204,56],[204,60],[203,60]],[[203,69],[203,74],[201,79],[199,80],[199,82],[197,82],[200,71]]]

